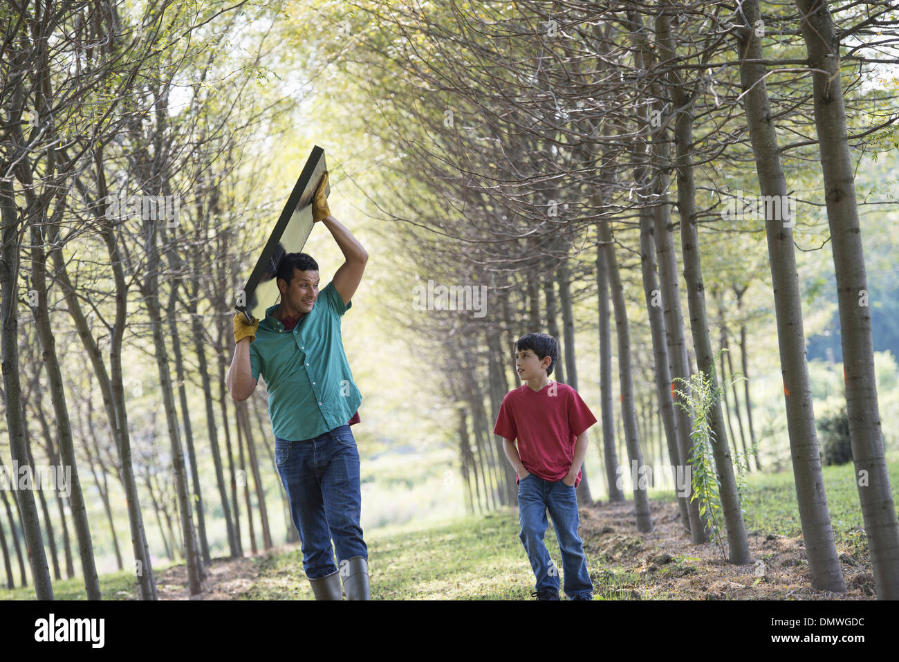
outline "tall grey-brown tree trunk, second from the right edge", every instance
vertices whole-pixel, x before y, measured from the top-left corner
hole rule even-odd
[[[787,179],[780,165],[777,131],[770,119],[765,66],[745,59],[761,60],[761,37],[754,25],[761,19],[758,0],[743,4],[746,23],[738,39],[741,48],[740,78],[752,153],[763,196],[787,196]],[[776,219],[771,205],[765,205],[765,234],[768,237],[771,284],[777,316],[780,368],[787,407],[790,457],[796,481],[799,519],[806,542],[812,586],[821,591],[844,593],[840,559],[833,544],[830,511],[824,493],[821,456],[814,426],[811,382],[806,364],[806,334],[802,319],[802,298],[797,278],[796,255],[791,223]],[[783,208],[781,207],[781,210]],[[699,354],[699,351],[697,352]]]

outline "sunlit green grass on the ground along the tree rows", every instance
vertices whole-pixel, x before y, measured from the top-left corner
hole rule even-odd
[[[899,502],[899,461],[887,463],[895,501]],[[823,468],[824,484],[832,517],[834,538],[841,552],[866,556],[867,539],[863,530],[858,488],[852,464]],[[797,536],[802,529],[796,503],[796,488],[791,471],[774,474],[749,474],[743,508],[749,532]],[[654,498],[672,501],[673,492],[655,492]],[[369,559],[372,559],[372,584],[377,583],[377,599],[386,600],[520,600],[529,599],[534,577],[518,538],[518,515],[512,508],[494,513],[469,515],[440,525],[390,527],[366,532]],[[552,525],[547,530],[547,550],[561,567]],[[619,548],[634,549],[641,544],[636,535],[622,538]],[[592,568],[594,598],[631,599],[645,581],[636,572],[621,568],[607,549],[601,551],[589,536],[584,550]],[[625,550],[627,551],[627,550]],[[678,555],[659,568],[664,575],[690,574],[698,559]],[[312,591],[303,573],[298,549],[275,552],[251,559],[258,580],[242,599],[312,599]],[[178,564],[174,564],[178,565]],[[154,568],[161,576],[169,566]],[[129,571],[100,577],[104,599],[129,600],[138,595],[137,583]],[[63,600],[84,600],[85,589],[79,578],[57,581],[54,595]],[[31,586],[0,591],[0,599],[33,599]],[[675,596],[671,596],[675,597]]]

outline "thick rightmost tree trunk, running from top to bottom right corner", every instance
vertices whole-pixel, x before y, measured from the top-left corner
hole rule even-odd
[[[814,124],[831,229],[852,461],[877,598],[899,599],[899,522],[884,457],[868,306],[868,274],[846,130],[840,43],[823,0],[797,0],[814,82]]]

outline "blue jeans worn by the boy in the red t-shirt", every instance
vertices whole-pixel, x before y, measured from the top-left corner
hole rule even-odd
[[[587,557],[577,534],[580,516],[574,486],[561,480],[552,482],[536,474],[528,474],[518,486],[518,517],[521,522],[521,543],[528,552],[530,568],[537,584],[534,588],[559,591],[558,568],[549,559],[543,536],[547,532],[547,508],[556,528],[556,541],[562,552],[562,571],[565,575],[565,595],[569,599],[592,599],[593,584],[587,572]]]

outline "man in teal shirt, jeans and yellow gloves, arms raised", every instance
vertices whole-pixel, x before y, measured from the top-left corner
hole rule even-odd
[[[341,318],[352,307],[369,254],[331,215],[327,173],[316,189],[314,222],[325,225],[345,262],[319,292],[318,264],[285,255],[276,274],[280,304],[248,325],[234,318],[235,353],[226,383],[245,400],[262,374],[269,390],[275,462],[303,550],[316,600],[368,600],[368,548],[360,528],[360,462],[350,430],[359,422],[359,389],[343,353]],[[340,568],[334,565],[334,550]]]

